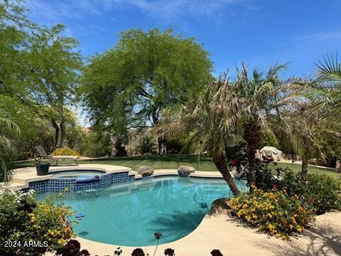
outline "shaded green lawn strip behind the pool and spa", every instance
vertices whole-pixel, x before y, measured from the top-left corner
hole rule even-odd
[[[130,167],[136,170],[141,165],[147,165],[153,167],[153,169],[177,169],[178,166],[188,165],[193,166],[196,170],[200,171],[217,171],[215,164],[212,163],[212,159],[208,156],[200,156],[200,161],[198,161],[197,156],[188,155],[165,155],[165,156],[131,156],[131,157],[116,157],[110,159],[94,159],[94,160],[80,160],[80,164],[113,164],[119,166]],[[63,163],[63,161],[60,161]],[[63,163],[64,164],[64,163]],[[65,161],[65,164],[67,162]],[[24,162],[16,164],[16,168],[32,166],[32,162]],[[278,163],[278,166],[288,167],[293,171],[301,171],[301,164],[291,164],[291,163]],[[340,178],[338,174],[333,169],[322,169],[317,166],[308,166],[308,172],[310,174],[328,174],[330,176],[335,176]]]

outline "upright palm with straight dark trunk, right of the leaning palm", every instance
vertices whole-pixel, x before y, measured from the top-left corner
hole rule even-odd
[[[296,90],[293,85],[296,79],[281,81],[278,78],[278,73],[285,69],[286,65],[272,65],[267,73],[254,69],[251,75],[244,64],[242,70],[237,69],[237,81],[233,90],[241,103],[235,107],[238,108],[236,111],[240,116],[239,125],[247,143],[249,185],[254,185],[256,181],[255,154],[262,134],[269,134],[277,142],[271,119],[295,99],[293,93]]]

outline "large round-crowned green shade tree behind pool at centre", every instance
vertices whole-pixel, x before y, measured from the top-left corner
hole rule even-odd
[[[89,62],[81,90],[87,109],[94,121],[125,129],[158,124],[166,107],[195,97],[212,70],[202,46],[172,29],[124,31],[114,48]],[[166,137],[158,142],[166,153]]]

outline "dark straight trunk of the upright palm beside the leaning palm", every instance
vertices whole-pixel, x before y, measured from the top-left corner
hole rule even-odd
[[[249,124],[244,129],[244,139],[247,142],[247,161],[249,163],[249,172],[247,175],[247,182],[250,190],[252,186],[256,186],[256,171],[255,171],[255,154],[256,146],[261,140],[261,129],[258,124]]]

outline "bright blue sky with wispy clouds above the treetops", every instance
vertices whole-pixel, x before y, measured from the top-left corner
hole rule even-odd
[[[340,0],[26,0],[36,23],[63,23],[84,57],[112,48],[128,28],[169,28],[210,52],[215,74],[244,61],[267,68],[291,62],[285,76],[308,75],[340,52]]]

